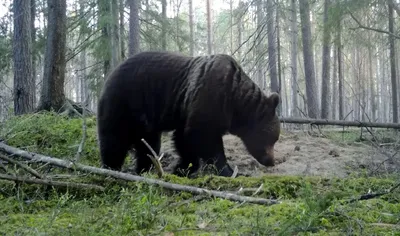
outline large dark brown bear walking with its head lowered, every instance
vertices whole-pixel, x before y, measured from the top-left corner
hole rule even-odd
[[[99,99],[102,166],[120,170],[133,148],[136,172],[148,171],[151,153],[141,139],[159,153],[166,131],[174,131],[179,176],[198,170],[200,160],[231,176],[222,141],[227,133],[240,137],[259,163],[273,166],[279,100],[276,93],[266,96],[231,56],[138,53],[110,73]]]

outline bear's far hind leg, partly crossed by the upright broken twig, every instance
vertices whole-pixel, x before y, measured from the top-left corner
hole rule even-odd
[[[143,137],[143,139],[150,145],[157,155],[160,154],[161,133],[147,134]],[[153,162],[147,155],[152,155],[151,151],[141,139],[135,142],[134,148],[136,150],[136,173],[141,174],[149,171]]]

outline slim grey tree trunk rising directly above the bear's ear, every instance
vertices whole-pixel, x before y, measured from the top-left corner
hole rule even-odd
[[[274,4],[272,0],[267,0],[267,34],[268,34],[268,67],[271,77],[271,91],[280,93],[278,87],[278,73],[276,71],[276,42],[274,29]]]

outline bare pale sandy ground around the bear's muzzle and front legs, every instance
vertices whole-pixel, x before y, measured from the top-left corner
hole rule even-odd
[[[346,177],[349,174],[379,175],[400,170],[399,158],[389,161],[387,155],[370,145],[357,142],[341,144],[305,132],[281,136],[275,145],[274,167],[260,165],[238,137],[226,135],[223,139],[229,164],[232,167],[236,165],[239,174],[246,176],[273,174]],[[162,143],[161,152],[164,153],[164,170],[171,172],[178,156],[169,138]]]

